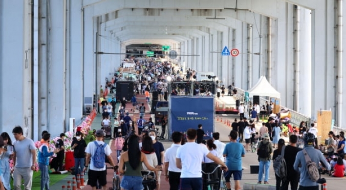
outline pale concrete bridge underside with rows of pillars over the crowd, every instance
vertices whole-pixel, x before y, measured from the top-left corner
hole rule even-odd
[[[343,127],[343,0],[0,1],[0,131],[37,140],[78,123],[127,45],[170,45],[172,60],[251,88],[260,75],[281,105]],[[237,57],[221,56],[224,46]],[[92,103],[91,103],[92,104]]]

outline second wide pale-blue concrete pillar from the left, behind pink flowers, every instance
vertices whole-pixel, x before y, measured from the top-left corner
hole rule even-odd
[[[66,126],[66,14],[67,1],[49,1],[50,39],[48,64],[48,118],[47,128],[52,134],[62,132]]]

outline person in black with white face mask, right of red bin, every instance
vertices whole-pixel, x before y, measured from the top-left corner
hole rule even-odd
[[[71,145],[71,149],[74,150],[74,174],[77,179],[77,174],[81,174],[81,171],[83,171],[85,165],[84,151],[86,149],[86,141],[82,138],[81,131],[76,132],[76,137],[73,138]]]

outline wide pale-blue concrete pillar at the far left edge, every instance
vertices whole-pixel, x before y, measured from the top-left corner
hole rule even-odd
[[[29,138],[33,137],[31,6],[27,1],[0,2],[0,131],[11,135],[20,125]],[[18,111],[9,111],[13,107]]]

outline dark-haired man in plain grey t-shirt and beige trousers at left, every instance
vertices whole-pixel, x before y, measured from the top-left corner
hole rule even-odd
[[[16,139],[13,142],[13,186],[15,190],[22,190],[23,179],[24,189],[31,190],[32,174],[36,170],[36,147],[33,140],[23,136],[22,127],[14,127],[12,133]]]

